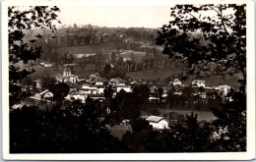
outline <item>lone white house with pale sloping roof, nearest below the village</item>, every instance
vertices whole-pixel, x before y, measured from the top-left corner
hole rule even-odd
[[[153,129],[168,129],[168,121],[160,116],[150,116],[146,119],[147,122],[153,127]]]

